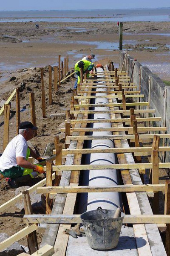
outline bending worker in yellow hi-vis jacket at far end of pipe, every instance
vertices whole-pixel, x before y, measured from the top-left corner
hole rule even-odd
[[[74,89],[77,88],[77,84],[80,84],[80,68],[82,68],[82,73],[87,75],[87,78],[89,77],[89,72],[93,69],[94,63],[91,63],[91,61],[87,60],[81,60],[77,61],[74,67],[74,71],[76,75],[78,76],[76,79],[76,82],[74,84]]]

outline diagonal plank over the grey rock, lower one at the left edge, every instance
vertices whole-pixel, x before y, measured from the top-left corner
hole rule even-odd
[[[29,225],[23,228],[22,230],[18,231],[17,233],[15,233],[14,235],[10,236],[6,240],[0,242],[0,251],[6,249],[11,244],[14,244],[15,242],[19,241],[24,236],[27,236],[29,233],[37,230],[37,228],[38,228],[37,224]]]

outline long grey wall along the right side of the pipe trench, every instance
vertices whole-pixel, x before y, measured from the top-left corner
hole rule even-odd
[[[126,52],[119,51],[119,67],[122,68],[122,64],[125,58]],[[126,62],[126,61],[125,61]],[[133,70],[134,65],[134,70]],[[125,70],[125,64],[124,68]],[[144,94],[144,98],[136,98],[136,101],[149,102],[149,106],[139,108],[155,109],[155,117],[161,117],[160,122],[150,123],[150,126],[167,126],[167,133],[170,133],[170,88],[164,84],[164,82],[155,74],[153,74],[146,66],[142,66],[138,61],[135,61],[129,55],[127,55],[127,73],[131,77],[131,82],[137,86],[136,90],[140,90],[141,94]],[[141,116],[153,116],[152,114],[145,114]],[[148,125],[148,122],[147,122]],[[162,140],[161,140],[162,141]],[[161,143],[162,144],[162,143]],[[170,139],[167,139],[167,146],[170,145]],[[170,162],[170,153],[166,153],[166,162]]]

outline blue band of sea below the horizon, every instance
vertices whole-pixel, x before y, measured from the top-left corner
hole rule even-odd
[[[65,11],[0,11],[0,22],[170,21],[170,8]]]

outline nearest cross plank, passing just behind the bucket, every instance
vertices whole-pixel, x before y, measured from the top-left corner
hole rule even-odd
[[[33,214],[24,215],[24,222],[28,223],[59,223],[59,224],[72,224],[72,223],[82,223],[79,214],[73,215],[45,215],[45,214]],[[123,224],[170,224],[170,215],[140,215],[140,214],[130,214],[125,215],[123,219]]]

